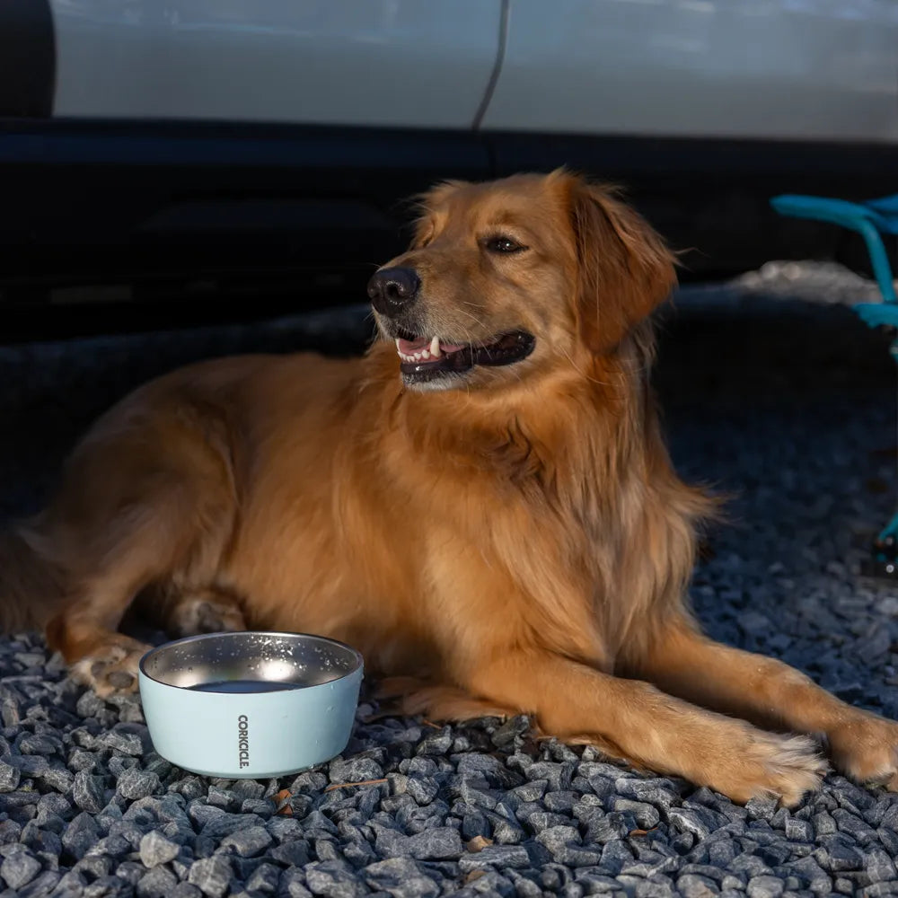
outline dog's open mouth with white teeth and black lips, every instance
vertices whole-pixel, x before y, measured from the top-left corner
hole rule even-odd
[[[446,374],[462,374],[474,365],[511,365],[533,352],[536,340],[524,330],[499,334],[486,343],[450,343],[438,337],[417,337],[399,330],[396,351],[400,371],[409,382],[423,383]]]

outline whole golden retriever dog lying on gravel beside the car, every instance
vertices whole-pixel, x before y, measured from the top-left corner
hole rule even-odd
[[[4,622],[100,695],[135,688],[137,597],[173,635],[319,633],[432,718],[541,732],[786,805],[826,764],[898,788],[898,724],[704,637],[712,503],[648,385],[664,242],[565,171],[449,182],[371,278],[364,358],[225,358],[148,383],[4,538]]]

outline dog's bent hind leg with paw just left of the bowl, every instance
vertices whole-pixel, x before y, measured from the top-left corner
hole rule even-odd
[[[89,439],[44,515],[42,539],[66,584],[48,643],[100,695],[136,689],[146,646],[116,630],[137,594],[215,582],[236,513],[215,424],[185,413]]]

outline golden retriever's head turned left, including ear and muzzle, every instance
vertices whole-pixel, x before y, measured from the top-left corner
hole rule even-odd
[[[674,259],[612,189],[559,170],[450,181],[368,284],[404,383],[494,386],[606,355],[670,294]]]

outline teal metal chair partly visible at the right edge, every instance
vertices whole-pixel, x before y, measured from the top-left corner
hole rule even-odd
[[[857,231],[864,238],[883,301],[858,303],[853,309],[861,321],[871,328],[894,328],[896,336],[889,351],[898,363],[898,297],[895,295],[892,266],[883,243],[884,234],[898,234],[898,194],[851,203],[844,199],[787,193],[772,198],[770,205],[781,216],[810,218],[841,225]],[[880,577],[898,577],[898,512],[895,512],[892,520],[876,537],[866,573]]]

